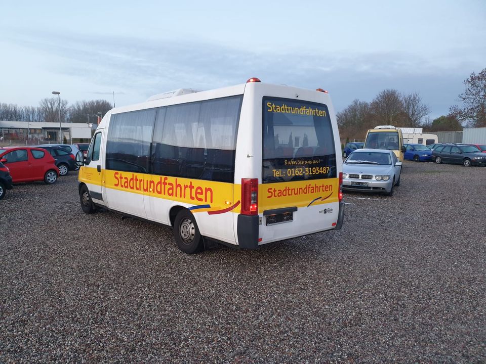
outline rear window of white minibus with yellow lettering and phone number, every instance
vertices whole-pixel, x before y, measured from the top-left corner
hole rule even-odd
[[[335,178],[336,150],[328,107],[263,98],[262,182]]]

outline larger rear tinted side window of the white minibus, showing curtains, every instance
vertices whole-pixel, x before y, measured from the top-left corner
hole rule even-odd
[[[157,113],[153,173],[232,182],[241,96],[168,106]]]

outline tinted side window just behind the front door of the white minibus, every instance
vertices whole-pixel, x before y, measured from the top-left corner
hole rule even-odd
[[[149,172],[150,143],[157,109],[112,114],[106,143],[106,169]]]

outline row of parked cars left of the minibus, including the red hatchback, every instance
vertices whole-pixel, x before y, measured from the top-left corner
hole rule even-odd
[[[15,183],[44,181],[54,184],[59,176],[78,168],[74,152],[78,159],[83,158],[75,145],[0,148],[0,200]]]

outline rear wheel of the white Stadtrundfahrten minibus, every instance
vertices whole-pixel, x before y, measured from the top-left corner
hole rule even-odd
[[[186,254],[199,253],[204,249],[196,220],[186,209],[179,211],[174,220],[174,238],[177,247]]]

